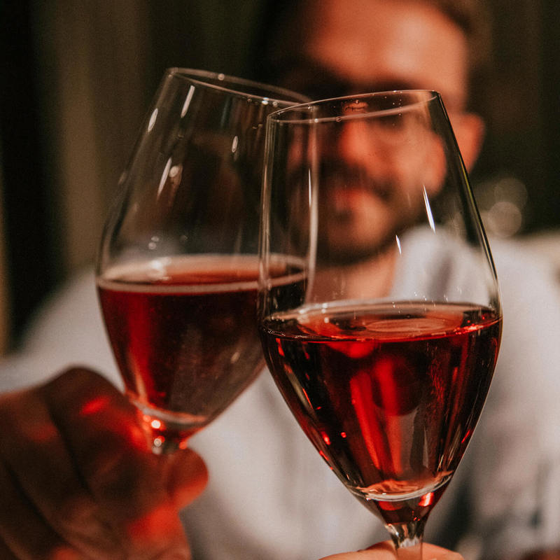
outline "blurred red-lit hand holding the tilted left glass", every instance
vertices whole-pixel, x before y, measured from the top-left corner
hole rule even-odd
[[[153,455],[136,414],[84,369],[0,395],[0,558],[190,558],[178,513],[206,467]]]

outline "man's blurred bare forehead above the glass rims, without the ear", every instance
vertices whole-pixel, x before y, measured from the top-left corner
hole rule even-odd
[[[411,1],[326,0],[319,17],[302,50],[337,77],[362,91],[378,83],[429,84],[458,109],[464,105],[465,37],[435,8]]]

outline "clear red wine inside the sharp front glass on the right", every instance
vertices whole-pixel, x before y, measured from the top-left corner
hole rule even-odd
[[[386,523],[422,517],[449,482],[500,333],[490,309],[425,302],[323,306],[261,325],[269,369],[297,421]]]

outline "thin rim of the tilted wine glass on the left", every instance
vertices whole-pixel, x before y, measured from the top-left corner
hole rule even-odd
[[[166,69],[165,76],[186,80],[195,85],[209,87],[210,89],[227,92],[245,99],[251,99],[263,105],[272,104],[273,106],[283,106],[285,109],[294,104],[305,104],[309,102],[309,97],[292,90],[287,90],[284,87],[249,80],[248,78],[230,76],[221,72],[173,66]],[[223,82],[223,84],[221,82]],[[239,89],[237,89],[236,86],[238,86]],[[263,93],[270,92],[272,95],[260,95],[258,93],[244,91],[243,88],[262,90]],[[277,97],[275,97],[276,95]]]

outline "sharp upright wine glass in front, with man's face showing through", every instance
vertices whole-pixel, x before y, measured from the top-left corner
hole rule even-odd
[[[420,559],[482,410],[496,272],[437,92],[267,118],[258,323],[269,370],[330,468]]]

